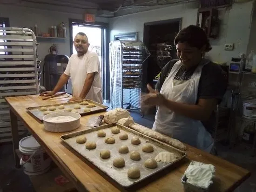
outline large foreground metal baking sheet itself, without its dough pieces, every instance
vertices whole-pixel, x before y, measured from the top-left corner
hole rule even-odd
[[[111,127],[118,126],[121,131],[118,134],[111,133]],[[106,137],[100,138],[97,137],[97,131],[104,130],[106,132]],[[123,132],[128,134],[127,140],[119,139],[119,135]],[[85,144],[76,143],[76,139],[78,136],[84,135],[87,138],[87,141],[94,141],[97,144],[96,149],[88,150],[85,148]],[[131,144],[131,138],[137,136],[141,140],[140,145]],[[104,140],[107,137],[114,137],[115,144],[106,144]],[[123,187],[130,187],[135,185],[136,183],[142,181],[155,174],[156,172],[160,172],[161,170],[172,166],[174,163],[180,161],[184,157],[186,157],[186,153],[178,150],[168,144],[165,144],[157,139],[150,138],[140,132],[137,132],[131,128],[121,126],[119,124],[107,124],[103,126],[94,127],[91,129],[87,129],[84,131],[73,132],[66,135],[62,135],[60,137],[68,146],[74,149],[76,152],[80,153],[82,157],[90,161],[92,164],[97,166],[102,172],[107,174],[109,177],[114,179],[117,183],[119,183]],[[146,143],[150,143],[154,147],[154,152],[147,153],[142,152],[142,146]],[[129,151],[138,151],[141,154],[141,160],[134,161],[129,158],[129,153],[120,154],[118,152],[118,148],[121,145],[127,145]],[[100,151],[103,149],[108,149],[111,152],[111,157],[109,159],[101,159]],[[178,156],[174,162],[171,163],[162,163],[157,162],[157,167],[155,169],[149,169],[144,166],[144,161],[148,158],[154,158],[159,152],[173,152]],[[125,159],[125,166],[123,168],[116,168],[113,166],[113,159],[117,157],[123,157]],[[127,176],[127,171],[130,167],[136,166],[141,171],[141,177],[139,179],[129,179]]]

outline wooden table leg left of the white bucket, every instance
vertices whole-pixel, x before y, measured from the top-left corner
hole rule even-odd
[[[19,132],[18,132],[18,122],[17,116],[10,109],[10,118],[11,118],[11,129],[12,129],[12,137],[13,137],[13,156],[15,167],[20,168],[20,159],[17,156],[15,149],[19,149]]]

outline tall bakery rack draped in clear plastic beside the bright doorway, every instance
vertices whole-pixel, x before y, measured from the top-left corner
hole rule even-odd
[[[141,41],[112,41],[109,44],[110,107],[140,110],[142,63],[150,53]]]

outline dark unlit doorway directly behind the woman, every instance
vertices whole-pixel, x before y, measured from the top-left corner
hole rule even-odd
[[[182,26],[182,18],[144,23],[143,42],[151,53],[143,64],[142,91],[155,85],[155,77],[168,61],[176,59],[174,39]]]

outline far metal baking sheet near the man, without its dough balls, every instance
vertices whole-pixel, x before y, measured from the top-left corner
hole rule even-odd
[[[46,105],[45,107],[47,107],[48,111],[49,111],[49,107],[56,106],[57,109],[55,111],[52,111],[52,112],[62,112],[62,111],[64,111],[64,109],[58,109],[58,106],[63,105],[63,106],[65,106],[65,108],[70,107],[70,108],[74,109],[74,106],[80,104],[82,101],[87,101],[88,103],[93,103],[96,106],[95,107],[88,107],[88,108],[91,109],[91,111],[84,112],[83,109],[87,108],[87,107],[80,105],[81,109],[77,109],[77,112],[79,114],[81,114],[81,115],[88,115],[88,114],[92,114],[92,113],[99,113],[101,111],[105,111],[105,110],[108,109],[108,106],[104,106],[104,105],[102,105],[100,103],[97,103],[97,102],[89,100],[89,99],[83,99],[83,100],[79,100],[79,101],[71,101],[71,102],[59,103],[59,104],[53,104],[53,105]],[[44,112],[40,111],[41,107],[42,106],[27,107],[26,109],[36,119],[39,119],[40,121],[43,121]]]

